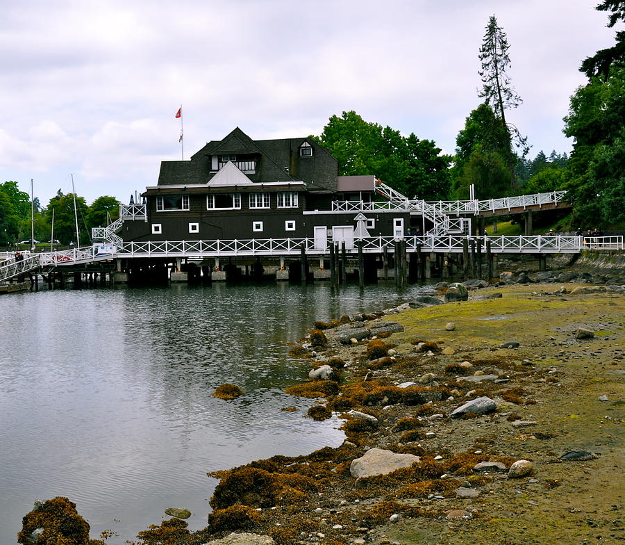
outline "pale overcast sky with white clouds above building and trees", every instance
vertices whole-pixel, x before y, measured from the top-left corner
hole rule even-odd
[[[331,115],[453,152],[478,106],[490,15],[510,43],[524,103],[509,120],[569,152],[562,117],[583,58],[613,43],[599,0],[20,0],[0,19],[0,182],[46,205],[58,189],[127,202],[240,127],[251,138],[319,135]],[[374,174],[374,173],[372,173]]]

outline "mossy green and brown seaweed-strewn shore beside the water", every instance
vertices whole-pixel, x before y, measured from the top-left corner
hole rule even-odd
[[[310,358],[312,367],[331,365],[337,380],[301,382],[293,391],[342,415],[347,441],[308,456],[275,456],[213,473],[220,482],[206,530],[188,532],[183,521],[165,521],[142,532],[140,543],[199,545],[230,532],[322,545],[625,539],[625,293],[603,286],[571,293],[577,286],[595,288],[486,288],[472,291],[466,302],[366,316],[365,326],[380,319],[403,325],[403,332],[382,334],[373,344],[334,342],[333,327],[323,330],[328,342],[316,341],[314,349],[304,339],[304,350],[294,352]],[[489,297],[495,291],[500,298]],[[450,322],[455,327],[446,327]],[[594,336],[577,339],[580,327]],[[500,348],[507,341],[518,348]],[[495,375],[497,382],[458,380],[472,375]],[[398,387],[408,381],[417,385]],[[453,409],[481,396],[495,400],[497,410],[450,418]],[[377,422],[351,416],[351,409]],[[357,480],[352,460],[374,447],[420,461]],[[574,449],[597,457],[560,461]],[[474,471],[478,462],[509,468],[519,459],[533,462],[531,475]],[[478,495],[462,498],[459,488]]]

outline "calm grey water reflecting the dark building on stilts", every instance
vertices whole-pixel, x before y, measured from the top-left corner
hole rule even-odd
[[[117,545],[166,507],[206,526],[207,471],[338,446],[331,420],[283,389],[314,320],[391,307],[412,286],[267,284],[42,291],[0,297],[0,544],[17,544],[35,499],[67,496],[91,537]],[[246,392],[226,402],[224,382]],[[299,412],[284,412],[295,406]],[[165,517],[166,518],[166,517]]]

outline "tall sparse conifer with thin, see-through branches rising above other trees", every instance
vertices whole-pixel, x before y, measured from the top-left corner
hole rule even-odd
[[[482,79],[482,90],[478,96],[483,98],[485,103],[492,107],[494,114],[506,133],[508,133],[508,150],[506,151],[506,162],[510,169],[510,180],[512,187],[517,185],[516,164],[518,161],[512,147],[512,140],[515,140],[517,147],[522,148],[522,154],[528,151],[527,139],[521,136],[517,127],[508,124],[506,121],[506,110],[516,108],[522,104],[522,99],[512,88],[508,68],[510,67],[510,56],[508,56],[508,37],[503,28],[497,24],[497,17],[491,15],[486,26],[486,33],[482,46],[480,47],[479,58],[482,70],[478,71]]]

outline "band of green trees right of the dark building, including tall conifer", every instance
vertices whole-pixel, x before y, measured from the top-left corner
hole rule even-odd
[[[605,0],[608,26],[625,21],[625,1]],[[313,137],[335,156],[340,174],[374,174],[408,197],[479,199],[564,189],[574,204],[565,227],[625,222],[625,32],[615,45],[581,65],[588,81],[574,91],[562,131],[573,138],[570,156],[543,150],[528,158],[528,137],[506,119],[522,104],[508,76],[510,45],[492,15],[479,50],[481,104],[458,131],[453,154],[433,140],[402,136],[391,127],[366,122],[355,111],[333,115]]]

